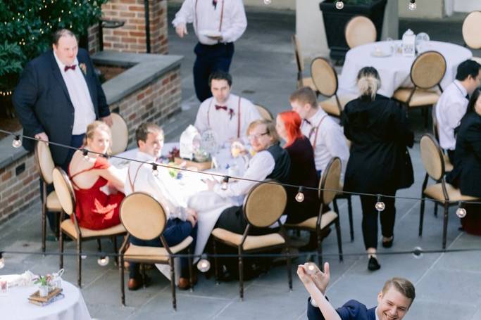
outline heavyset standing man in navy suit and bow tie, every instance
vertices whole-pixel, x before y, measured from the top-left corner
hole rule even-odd
[[[66,29],[54,33],[52,50],[25,65],[12,101],[23,134],[44,141],[79,148],[89,123],[101,119],[112,124],[92,60],[87,51],[78,49],[75,34]],[[35,143],[23,139],[23,146],[32,151]],[[74,150],[49,147],[55,165],[67,171]],[[48,217],[54,229],[54,216]]]

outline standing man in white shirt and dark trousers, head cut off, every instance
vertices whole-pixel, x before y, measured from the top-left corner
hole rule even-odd
[[[172,24],[179,37],[187,34],[187,23],[194,25],[199,39],[195,46],[194,87],[199,101],[212,96],[208,77],[215,70],[229,71],[234,41],[247,27],[242,0],[185,0]]]

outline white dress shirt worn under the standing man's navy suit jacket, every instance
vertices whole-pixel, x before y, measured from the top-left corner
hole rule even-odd
[[[75,58],[73,62],[75,70],[69,69],[65,71],[65,65],[61,60],[58,60],[55,52],[54,56],[75,110],[72,134],[85,134],[87,126],[94,122],[96,115],[94,103],[92,103],[92,97],[90,96],[89,87],[87,87],[82,69],[78,65],[77,58]]]

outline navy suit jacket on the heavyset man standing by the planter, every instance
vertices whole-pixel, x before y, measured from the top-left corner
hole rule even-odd
[[[94,72],[94,65],[87,51],[79,49],[77,60],[79,65],[85,63],[87,67],[86,74],[82,72],[82,75],[89,87],[97,119],[110,115],[104,90]],[[77,68],[80,67],[77,66]],[[54,51],[49,50],[25,65],[12,101],[20,123],[23,125],[25,136],[35,136],[45,132],[50,141],[70,146],[74,108],[61,70],[55,60]],[[32,151],[34,141],[23,139],[23,146],[28,151]],[[63,164],[67,158],[68,149],[49,146],[54,162],[57,165]]]

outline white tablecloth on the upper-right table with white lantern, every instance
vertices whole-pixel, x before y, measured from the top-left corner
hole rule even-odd
[[[383,96],[391,97],[399,87],[413,87],[409,73],[416,57],[404,57],[397,52],[382,58],[371,55],[376,47],[382,52],[391,52],[392,45],[401,46],[401,41],[379,41],[349,50],[339,77],[339,94],[358,95],[356,77],[359,70],[366,66],[372,66],[379,72],[381,88],[378,93]],[[473,56],[470,50],[448,42],[428,41],[420,51],[430,50],[438,51],[446,59],[446,74],[441,82],[443,89],[453,82],[459,63]]]

